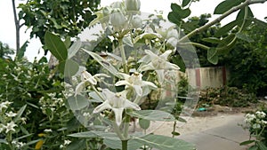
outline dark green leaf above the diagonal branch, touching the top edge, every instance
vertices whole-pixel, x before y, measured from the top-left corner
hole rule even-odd
[[[223,14],[224,12],[230,10],[232,7],[239,5],[244,1],[245,0],[225,0],[215,7],[214,14]]]

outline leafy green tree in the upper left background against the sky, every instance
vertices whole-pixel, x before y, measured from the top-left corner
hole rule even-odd
[[[77,36],[95,18],[99,4],[100,0],[28,0],[19,6],[19,19],[32,29],[30,37],[44,44],[47,30],[63,38]]]

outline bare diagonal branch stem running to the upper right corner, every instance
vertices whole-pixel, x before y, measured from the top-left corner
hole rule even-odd
[[[184,40],[190,38],[191,36],[197,35],[199,32],[202,32],[202,31],[206,30],[207,28],[210,28],[214,24],[216,24],[216,23],[220,22],[221,20],[223,20],[225,17],[229,16],[231,13],[237,12],[239,9],[242,9],[242,8],[246,7],[247,5],[249,5],[249,4],[265,3],[266,1],[267,0],[247,0],[242,4],[239,4],[238,6],[232,7],[229,11],[224,12],[220,17],[218,17],[215,20],[207,23],[206,25],[204,25],[204,26],[202,26],[200,28],[194,29],[187,36],[183,36],[178,42],[180,42],[180,43],[184,42]]]

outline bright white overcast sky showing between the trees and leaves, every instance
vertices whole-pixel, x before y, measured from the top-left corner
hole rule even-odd
[[[105,6],[116,2],[117,0],[101,0],[101,6]],[[172,3],[179,4],[182,0],[141,0],[141,11],[154,13],[155,10],[163,11],[166,17],[168,12],[171,11],[170,5]],[[190,6],[191,15],[190,16],[200,16],[203,13],[213,14],[214,8],[217,4],[223,0],[200,0],[200,2],[193,3]],[[19,3],[26,2],[26,0],[16,0],[17,5]],[[263,20],[267,16],[266,9],[267,3],[265,4],[253,4],[251,6],[252,12],[254,12],[255,17],[259,20]],[[232,14],[228,18],[222,21],[222,24],[226,24],[231,20],[234,20],[236,13]],[[212,19],[218,17],[214,15]],[[12,13],[12,1],[11,0],[0,0],[0,41],[2,43],[9,44],[10,47],[15,49],[15,25]],[[40,58],[44,55],[44,51],[41,49],[41,43],[38,39],[29,38],[29,31],[26,27],[20,28],[20,45],[29,41],[28,48],[25,56],[32,61],[35,57]]]

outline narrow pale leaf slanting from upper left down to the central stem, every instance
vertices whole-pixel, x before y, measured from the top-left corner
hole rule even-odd
[[[117,73],[118,73],[117,69],[115,67],[113,67],[106,59],[101,58],[100,55],[96,54],[93,51],[87,51],[85,49],[84,49],[84,51],[87,52],[90,56],[92,56],[93,59],[96,60],[102,67],[107,69],[109,71],[109,73],[119,77],[119,75],[117,75]]]

